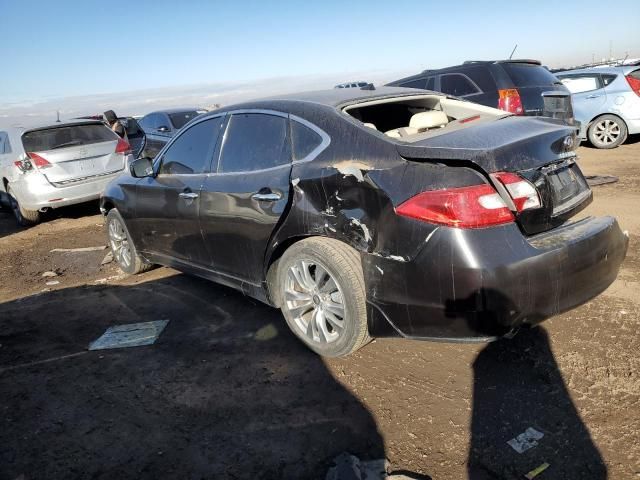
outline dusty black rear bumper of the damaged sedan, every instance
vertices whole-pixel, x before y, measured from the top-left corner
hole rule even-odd
[[[612,217],[586,218],[533,237],[515,224],[440,227],[413,258],[363,254],[370,327],[434,340],[505,335],[581,305],[616,278],[628,236]],[[386,322],[385,322],[386,320]]]

